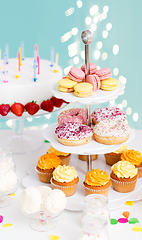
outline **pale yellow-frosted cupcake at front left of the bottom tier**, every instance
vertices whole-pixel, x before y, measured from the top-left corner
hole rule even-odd
[[[73,166],[60,165],[53,172],[51,184],[53,189],[60,189],[69,197],[75,194],[78,181],[79,177]]]

